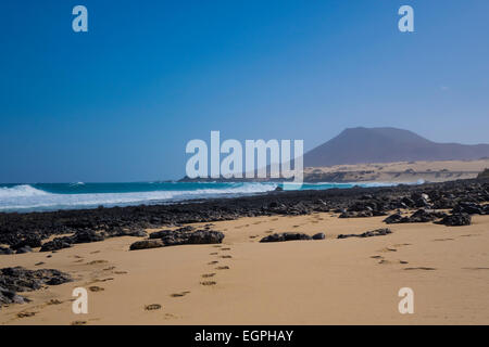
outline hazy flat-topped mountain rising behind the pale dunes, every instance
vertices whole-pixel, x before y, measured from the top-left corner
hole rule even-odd
[[[349,128],[305,153],[304,167],[482,157],[489,157],[489,144],[437,143],[396,128]]]

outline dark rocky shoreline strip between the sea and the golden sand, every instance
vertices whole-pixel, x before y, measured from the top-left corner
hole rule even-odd
[[[459,180],[421,185],[281,191],[238,198],[193,201],[173,205],[0,214],[0,254],[43,252],[114,236],[146,236],[145,229],[231,220],[240,217],[338,213],[340,218],[389,216],[386,223],[436,221],[469,223],[469,215],[488,215],[489,180]],[[418,209],[402,217],[398,209]],[[450,209],[451,215],[436,211]],[[393,215],[392,215],[393,214]],[[468,216],[468,217],[467,217]],[[46,239],[52,235],[72,234]],[[188,239],[188,235],[186,235]],[[185,239],[185,237],[184,237]],[[178,242],[185,241],[176,241]],[[174,241],[175,243],[175,241]]]

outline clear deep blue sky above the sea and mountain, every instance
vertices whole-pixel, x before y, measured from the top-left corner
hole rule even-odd
[[[487,0],[2,0],[0,182],[179,178],[211,130],[489,142],[488,33]]]

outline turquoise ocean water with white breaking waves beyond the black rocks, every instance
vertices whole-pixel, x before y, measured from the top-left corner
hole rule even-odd
[[[351,188],[356,183],[304,183],[298,190]],[[41,211],[98,206],[162,204],[196,198],[235,197],[275,190],[273,182],[136,182],[0,184],[0,211]],[[358,184],[358,185],[383,185]],[[290,187],[288,188],[290,189]],[[293,189],[293,187],[292,187]]]

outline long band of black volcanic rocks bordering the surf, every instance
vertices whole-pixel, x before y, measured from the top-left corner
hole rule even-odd
[[[40,240],[57,234],[80,230],[106,230],[121,228],[137,231],[192,222],[212,222],[239,217],[272,215],[305,215],[312,211],[348,209],[364,195],[381,201],[379,213],[403,207],[401,198],[412,194],[453,194],[438,207],[451,208],[456,198],[474,194],[474,185],[488,184],[489,180],[469,179],[416,185],[372,187],[304,191],[273,191],[250,196],[186,201],[164,205],[136,205],[36,213],[0,213],[0,245],[14,245],[26,235]],[[368,200],[368,198],[367,198]],[[489,198],[488,198],[489,200]],[[376,203],[377,204],[377,203]],[[406,206],[404,206],[406,207]],[[423,207],[423,206],[418,206]]]

